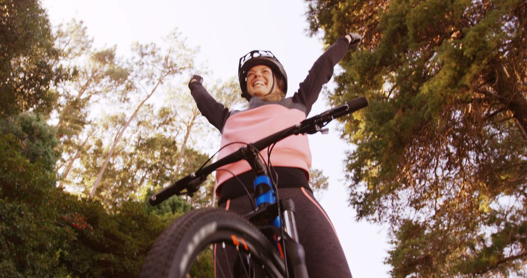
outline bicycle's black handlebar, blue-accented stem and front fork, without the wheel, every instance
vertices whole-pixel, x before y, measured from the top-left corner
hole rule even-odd
[[[247,144],[246,147],[241,147],[238,151],[223,157],[221,160],[201,167],[198,171],[183,177],[163,191],[151,196],[149,202],[151,205],[157,205],[172,195],[186,194],[192,196],[198,190],[199,185],[206,180],[207,175],[216,171],[217,168],[240,160],[246,160],[257,174],[255,194],[253,196],[257,208],[244,217],[255,224],[271,242],[281,242],[285,245],[282,245],[282,247],[277,244],[277,249],[282,259],[286,262],[285,265],[288,269],[286,275],[289,275],[289,272],[292,271],[294,277],[308,277],[304,248],[298,243],[294,203],[290,199],[278,200],[277,202],[274,192],[276,185],[272,184],[267,167],[259,158],[259,152],[291,135],[314,134],[316,132],[327,133],[327,129],[323,127],[331,120],[355,112],[367,105],[366,98],[361,97],[308,118],[297,125],[262,138],[255,143]],[[277,235],[278,240],[275,240],[272,235]]]

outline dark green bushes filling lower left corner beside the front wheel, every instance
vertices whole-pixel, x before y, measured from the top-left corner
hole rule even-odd
[[[139,273],[153,241],[174,217],[123,202],[100,202],[54,187],[41,162],[21,154],[13,135],[0,137],[0,276],[130,277]],[[180,207],[174,214],[180,215]]]

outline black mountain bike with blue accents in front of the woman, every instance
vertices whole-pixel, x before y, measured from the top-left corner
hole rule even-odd
[[[183,177],[163,191],[151,196],[149,203],[157,205],[173,195],[192,196],[217,168],[245,159],[256,173],[256,203],[247,215],[221,208],[200,208],[175,220],[158,237],[141,269],[141,277],[188,277],[191,265],[203,250],[223,252],[227,269],[220,267],[223,276],[308,277],[304,249],[298,243],[295,224],[295,205],[290,199],[277,197],[270,168],[260,159],[260,151],[291,135],[327,133],[324,128],[335,118],[353,113],[368,105],[365,97],[357,98],[297,125],[286,128],[261,140],[247,144],[196,172]],[[243,185],[242,185],[243,186]],[[244,187],[245,188],[245,187]],[[212,249],[209,247],[212,246]],[[212,250],[212,251],[211,251]],[[220,251],[218,251],[220,250]]]

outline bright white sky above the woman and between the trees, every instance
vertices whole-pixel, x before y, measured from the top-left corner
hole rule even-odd
[[[264,49],[284,65],[290,96],[323,53],[321,40],[307,35],[307,6],[302,0],[42,0],[42,4],[54,25],[72,18],[83,21],[96,47],[117,45],[120,55],[128,54],[134,41],[161,43],[178,28],[188,46],[200,48],[198,64],[211,70],[203,76],[205,86],[208,80],[236,76],[240,56]],[[321,96],[310,116],[327,108]],[[329,127],[329,134],[309,137],[313,167],[329,177],[329,190],[319,201],[335,225],[354,277],[387,277],[389,266],[383,264],[389,249],[387,228],[355,220],[355,211],[347,206],[344,180],[344,151],[350,147],[339,139],[335,123]]]

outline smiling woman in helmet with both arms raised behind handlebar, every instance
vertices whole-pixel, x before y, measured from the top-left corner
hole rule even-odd
[[[225,148],[218,159],[245,146],[236,142],[256,142],[305,120],[335,65],[349,48],[358,47],[360,39],[355,33],[339,38],[317,59],[298,91],[288,98],[287,74],[278,59],[269,51],[249,52],[238,65],[241,96],[249,101],[249,108],[244,111],[229,111],[216,102],[202,86],[203,78],[194,75],[189,83],[191,94],[202,115],[221,132],[221,146]],[[269,163],[267,150],[261,153]],[[307,136],[289,136],[278,142],[272,148],[270,163],[274,170],[271,174],[278,177],[280,198],[292,198],[295,202],[298,237],[306,252],[309,277],[350,277],[335,229],[309,187],[311,153]],[[252,205],[239,181],[252,192],[254,178],[246,161],[218,170],[214,190],[219,207],[240,214],[251,211]],[[222,263],[218,258],[216,268]],[[220,274],[217,272],[217,277]]]

